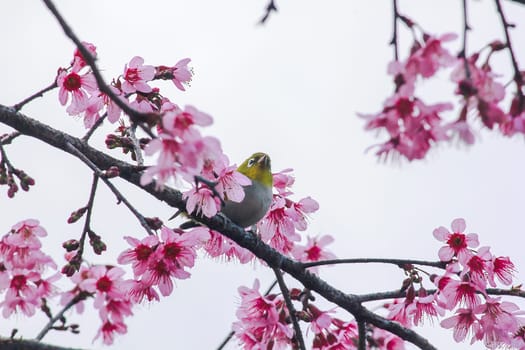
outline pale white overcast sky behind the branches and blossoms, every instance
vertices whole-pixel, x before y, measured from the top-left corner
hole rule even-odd
[[[469,4],[474,32],[468,49],[479,49],[493,39],[503,41],[493,2]],[[481,245],[511,256],[521,267],[516,283],[525,280],[521,136],[509,139],[482,130],[470,149],[445,145],[413,163],[385,164],[372,152],[365,153],[380,139],[363,130],[356,113],[379,111],[393,88],[386,75],[393,57],[388,46],[390,1],[277,1],[279,13],[265,26],[256,25],[266,5],[263,0],[57,1],[56,5],[77,35],[97,46],[106,81],[121,74],[135,55],[152,65],[173,65],[190,57],[195,71],[191,88],[182,93],[166,82],[158,85],[163,93],[180,105],[192,104],[211,114],[214,124],[204,133],[217,136],[233,162],[264,151],[271,155],[274,171],[294,168],[295,198],[312,196],[320,203],[307,234],[334,236],[331,250],[338,257],[436,260],[441,245],[432,230],[464,217],[467,231],[477,232]],[[399,5],[403,14],[430,33],[461,30],[459,1],[406,0]],[[525,7],[509,1],[504,5],[510,20],[518,24],[512,35],[525,67]],[[401,34],[400,52],[406,57],[403,48],[411,39],[406,30]],[[39,1],[2,3],[0,38],[0,103],[7,105],[51,83],[74,50]],[[459,45],[458,40],[449,47],[457,52]],[[499,53],[494,59],[498,71],[509,77],[508,55]],[[445,83],[434,79],[423,84],[427,103],[450,98],[448,75],[442,75]],[[59,105],[57,91],[23,112],[76,136],[85,132],[82,121]],[[92,144],[103,147],[113,128],[105,125]],[[0,133],[7,131],[0,126]],[[49,233],[45,249],[61,265],[60,244],[78,238],[83,225],[67,225],[66,219],[87,202],[91,172],[77,159],[30,138],[20,137],[6,149],[15,166],[33,176],[37,186],[14,200],[1,189],[0,232],[19,220],[38,218]],[[117,151],[109,153],[119,156]],[[127,183],[115,183],[145,216],[166,220],[173,213]],[[109,247],[102,257],[92,257],[95,262],[115,262],[127,247],[123,235],[145,234],[124,206],[115,205],[103,184],[92,223]],[[251,286],[257,277],[265,289],[273,281],[260,265],[207,258],[198,260],[191,273],[192,278],[177,281],[173,294],[161,303],[137,307],[135,316],[126,321],[128,334],[118,337],[112,348],[215,348],[235,320],[238,286]],[[321,275],[350,293],[394,290],[403,279],[401,270],[383,265],[338,266]],[[52,332],[44,340],[104,348],[100,342],[91,343],[100,322],[91,307],[68,320],[80,323],[80,335]],[[15,316],[1,321],[0,335],[8,336],[16,327],[31,338],[43,322],[43,317]],[[440,349],[467,346],[455,344],[452,333],[438,327],[420,332]]]

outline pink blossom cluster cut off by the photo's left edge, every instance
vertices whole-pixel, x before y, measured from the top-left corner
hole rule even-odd
[[[27,219],[15,224],[0,241],[0,302],[2,315],[13,313],[33,316],[42,299],[54,296],[54,283],[60,273],[44,277],[46,269],[56,270],[53,259],[42,253],[39,237],[47,235],[38,220]]]

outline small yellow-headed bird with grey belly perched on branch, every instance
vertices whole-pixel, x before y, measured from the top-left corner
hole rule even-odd
[[[254,153],[239,165],[237,171],[252,183],[243,186],[244,199],[241,202],[226,200],[221,212],[241,227],[253,226],[266,215],[272,204],[270,157],[262,152]]]

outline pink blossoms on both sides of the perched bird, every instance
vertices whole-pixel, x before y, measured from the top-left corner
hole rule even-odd
[[[207,179],[214,179],[217,182],[216,191],[222,198],[241,201],[244,198],[242,186],[249,184],[249,179],[235,171],[234,166],[227,166],[227,159],[222,162],[207,162],[207,166],[201,173]],[[291,169],[283,170],[273,174],[274,189],[277,194],[273,196],[270,210],[257,224],[257,232],[263,242],[271,247],[285,253],[291,254],[301,261],[318,261],[329,259],[333,254],[325,250],[325,246],[332,242],[332,238],[325,236],[322,238],[308,238],[305,246],[297,245],[301,236],[297,231],[305,231],[308,222],[307,214],[315,212],[319,205],[317,202],[306,197],[298,202],[289,198],[293,192],[290,187],[294,183],[294,178],[289,174]],[[211,217],[215,215],[221,206],[220,199],[207,187],[200,184],[184,193],[187,199],[186,209],[188,212],[202,213]],[[241,263],[247,263],[253,259],[253,254],[248,250],[239,247],[235,242],[222,234],[213,230],[196,228],[194,230],[205,230],[210,235],[210,240],[205,244],[204,249],[211,257],[225,257],[228,260],[237,259]]]

